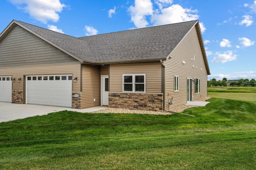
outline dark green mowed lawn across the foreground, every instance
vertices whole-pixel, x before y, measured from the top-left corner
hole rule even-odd
[[[61,111],[0,123],[0,169],[256,169],[256,102],[182,115]]]

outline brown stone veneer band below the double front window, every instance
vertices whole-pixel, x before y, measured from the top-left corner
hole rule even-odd
[[[163,94],[109,92],[108,107],[163,111]]]

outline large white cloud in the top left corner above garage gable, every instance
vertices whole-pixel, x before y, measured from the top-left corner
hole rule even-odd
[[[60,3],[60,0],[10,0],[10,2],[42,23],[57,22],[60,18],[57,13],[66,7],[65,4]]]

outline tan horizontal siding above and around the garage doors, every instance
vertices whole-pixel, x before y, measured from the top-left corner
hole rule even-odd
[[[12,78],[21,82],[15,81],[12,83],[12,90],[24,90],[23,82],[26,75],[56,75],[56,74],[72,74],[73,77],[78,77],[77,83],[73,83],[72,91],[80,92],[80,66],[81,64],[64,64],[64,65],[48,65],[48,66],[26,66],[0,68],[0,76],[10,75]]]

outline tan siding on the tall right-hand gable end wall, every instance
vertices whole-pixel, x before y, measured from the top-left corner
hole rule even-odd
[[[195,60],[194,59],[195,55]],[[187,78],[200,79],[200,93],[194,94],[192,83],[192,100],[207,96],[207,72],[200,49],[200,43],[196,28],[194,27],[183,39],[180,45],[173,51],[171,59],[165,64],[165,109],[168,109],[168,99],[173,95],[170,108],[186,104],[187,102]],[[182,64],[185,61],[186,64]],[[194,65],[194,67],[193,67]],[[202,70],[201,70],[202,69]],[[179,76],[179,91],[174,92],[174,76]]]

